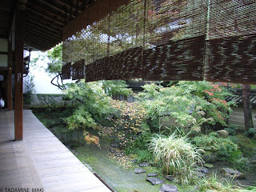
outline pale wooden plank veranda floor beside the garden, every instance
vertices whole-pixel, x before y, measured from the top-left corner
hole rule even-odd
[[[0,191],[110,191],[30,110],[23,114],[24,137],[14,141],[14,111],[0,110]]]

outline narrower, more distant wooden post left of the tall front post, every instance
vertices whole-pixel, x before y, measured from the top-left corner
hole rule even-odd
[[[12,96],[12,64],[13,64],[13,50],[11,42],[8,43],[8,74],[7,74],[7,109],[13,110],[13,96]]]

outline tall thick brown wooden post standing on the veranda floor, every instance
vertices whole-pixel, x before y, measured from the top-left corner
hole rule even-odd
[[[15,140],[23,139],[23,48],[25,7],[18,2],[15,12]]]

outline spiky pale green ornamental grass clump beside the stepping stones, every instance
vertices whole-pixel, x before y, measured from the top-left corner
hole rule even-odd
[[[196,168],[202,164],[202,156],[186,137],[156,134],[150,141],[154,163],[162,167],[163,174],[174,175],[177,182],[190,185],[196,178]]]

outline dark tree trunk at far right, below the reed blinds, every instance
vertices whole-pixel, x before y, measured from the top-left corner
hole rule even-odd
[[[242,85],[242,103],[245,116],[245,128],[249,130],[254,127],[250,105],[250,85]]]

